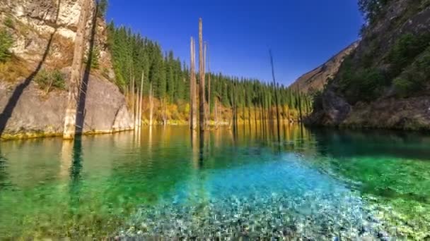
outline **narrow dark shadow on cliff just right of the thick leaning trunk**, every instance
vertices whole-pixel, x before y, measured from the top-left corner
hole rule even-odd
[[[95,31],[97,27],[97,15],[98,15],[98,4],[95,5],[95,11],[93,13],[92,27],[91,27],[91,38],[90,48],[88,49],[88,58],[86,61],[86,67],[83,72],[83,78],[81,86],[79,87],[79,99],[78,107],[76,109],[76,134],[82,134],[83,125],[85,123],[85,106],[86,106],[86,92],[88,90],[88,81],[90,80],[91,65],[93,62],[93,51],[95,44]]]

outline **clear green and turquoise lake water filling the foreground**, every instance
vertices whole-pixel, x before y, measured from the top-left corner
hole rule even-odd
[[[430,237],[430,136],[255,126],[0,143],[0,237]]]

